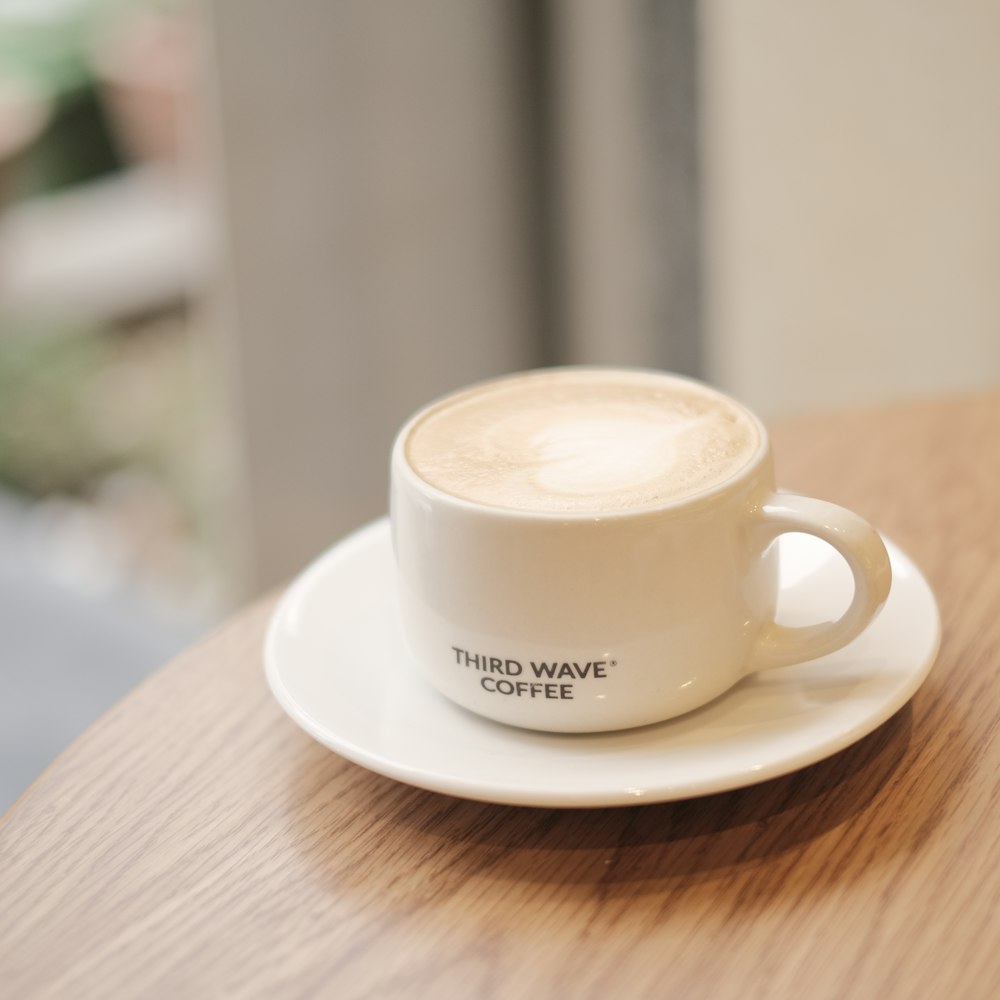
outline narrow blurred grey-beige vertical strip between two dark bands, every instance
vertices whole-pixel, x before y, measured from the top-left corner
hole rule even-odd
[[[562,357],[701,373],[694,0],[552,0]]]

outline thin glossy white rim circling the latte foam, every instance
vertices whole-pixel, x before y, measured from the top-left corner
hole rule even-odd
[[[480,500],[467,500],[463,497],[455,496],[453,493],[434,486],[424,479],[410,464],[406,455],[406,442],[416,425],[439,407],[464,396],[467,393],[475,392],[487,386],[497,385],[503,382],[522,379],[529,376],[541,376],[561,371],[589,371],[607,372],[609,374],[637,374],[652,375],[663,378],[667,381],[681,382],[688,385],[697,386],[699,389],[708,392],[720,399],[725,400],[740,409],[750,420],[757,430],[757,448],[754,454],[745,465],[741,466],[728,479],[710,486],[708,489],[699,490],[696,493],[682,496],[674,500],[665,500],[660,503],[647,504],[641,507],[630,507],[627,510],[530,510],[519,507],[504,507],[500,504],[485,503]],[[397,475],[401,477],[411,488],[418,493],[425,494],[436,503],[442,503],[457,510],[476,513],[480,516],[497,516],[503,518],[513,518],[530,521],[566,521],[566,522],[589,522],[589,521],[611,521],[625,520],[629,518],[641,518],[655,516],[677,511],[691,511],[711,504],[720,497],[731,495],[749,480],[752,480],[761,466],[768,461],[771,453],[771,440],[767,432],[767,427],[756,413],[748,406],[735,399],[721,389],[689,375],[680,375],[676,372],[669,372],[657,368],[628,365],[553,365],[551,367],[530,368],[523,371],[511,372],[506,375],[494,376],[492,378],[481,379],[477,382],[469,383],[459,389],[443,393],[421,406],[413,413],[406,423],[400,428],[393,442],[391,452],[391,479],[395,482]],[[393,490],[394,492],[394,490]]]

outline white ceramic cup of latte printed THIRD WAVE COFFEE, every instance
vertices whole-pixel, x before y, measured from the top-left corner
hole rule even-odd
[[[758,418],[665,373],[547,369],[455,393],[404,426],[391,480],[413,661],[452,701],[515,726],[669,719],[839,649],[889,592],[869,524],[776,490]],[[775,623],[784,532],[850,567],[836,621]]]

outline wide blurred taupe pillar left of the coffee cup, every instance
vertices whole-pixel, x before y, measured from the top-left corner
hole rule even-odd
[[[525,11],[208,9],[230,437],[255,591],[384,511],[391,439],[413,408],[538,360]]]

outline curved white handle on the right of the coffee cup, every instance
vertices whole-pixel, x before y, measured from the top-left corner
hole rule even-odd
[[[846,646],[875,617],[889,596],[892,569],[879,533],[852,511],[797,493],[773,493],[757,510],[758,530],[774,540],[785,532],[815,535],[832,545],[854,575],[854,597],[836,621],[789,628],[764,626],[747,673],[782,667]]]

